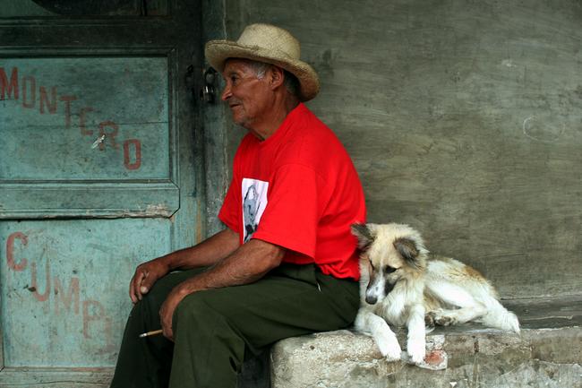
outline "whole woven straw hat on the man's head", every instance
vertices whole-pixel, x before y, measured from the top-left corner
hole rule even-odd
[[[297,77],[301,84],[299,98],[307,101],[320,91],[320,81],[312,66],[299,59],[299,41],[287,30],[270,24],[251,24],[236,40],[210,40],[204,54],[208,62],[222,73],[228,58],[246,58],[277,65]]]

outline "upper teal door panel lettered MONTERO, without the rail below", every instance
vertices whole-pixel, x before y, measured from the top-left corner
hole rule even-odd
[[[170,178],[166,57],[4,59],[0,77],[0,179]]]

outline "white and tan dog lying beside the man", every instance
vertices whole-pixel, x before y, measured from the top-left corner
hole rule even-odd
[[[501,306],[495,289],[474,268],[430,254],[421,235],[407,225],[354,224],[360,248],[361,306],[355,330],[371,334],[382,356],[401,358],[396,334],[407,327],[408,360],[421,364],[426,327],[475,321],[519,332],[518,317]]]

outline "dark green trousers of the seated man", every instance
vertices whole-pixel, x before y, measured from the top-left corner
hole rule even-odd
[[[138,338],[160,328],[167,294],[200,271],[168,274],[133,306],[112,388],[234,388],[245,357],[287,337],[345,328],[359,306],[357,282],[284,263],[252,284],[185,297],[173,317],[174,343]]]

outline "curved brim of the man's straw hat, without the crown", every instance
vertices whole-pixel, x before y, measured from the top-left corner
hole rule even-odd
[[[312,66],[282,52],[262,47],[246,47],[232,40],[210,40],[204,49],[209,64],[218,72],[224,71],[228,58],[244,58],[276,65],[297,77],[300,83],[299,99],[308,101],[320,91],[320,80]]]

